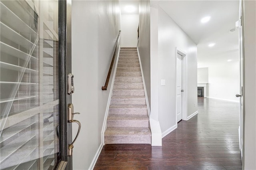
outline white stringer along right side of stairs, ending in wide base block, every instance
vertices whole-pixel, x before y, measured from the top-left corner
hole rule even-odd
[[[144,93],[146,97],[146,105],[148,109],[148,117],[149,117],[149,128],[151,130],[151,146],[162,146],[162,131],[160,127],[159,121],[156,121],[151,118],[151,113],[150,113],[150,107],[149,107],[149,102],[148,102],[148,94],[147,94],[147,89],[145,85],[145,80],[144,80],[144,75],[143,75],[143,69],[140,61],[140,52],[137,46],[137,52],[138,52],[138,57],[139,57],[139,62],[140,62],[140,70],[141,70],[141,75],[142,75],[142,82],[143,82],[143,87],[144,87]]]

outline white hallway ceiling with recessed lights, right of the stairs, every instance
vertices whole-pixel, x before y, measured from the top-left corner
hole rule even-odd
[[[200,67],[207,67],[214,54],[238,49],[238,30],[229,32],[239,18],[238,0],[163,0],[158,4],[198,45]],[[205,16],[211,19],[202,24],[200,20]],[[209,43],[216,45],[208,47]],[[227,62],[224,57],[218,61]]]

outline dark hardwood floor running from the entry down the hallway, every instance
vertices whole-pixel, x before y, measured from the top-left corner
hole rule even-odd
[[[198,98],[198,115],[150,144],[108,144],[95,170],[241,170],[239,104]]]

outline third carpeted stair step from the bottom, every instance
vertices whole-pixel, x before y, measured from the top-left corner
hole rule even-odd
[[[109,115],[148,115],[146,105],[110,105]]]

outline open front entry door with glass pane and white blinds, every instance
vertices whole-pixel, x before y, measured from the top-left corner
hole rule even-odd
[[[66,4],[0,0],[1,170],[72,169]]]

